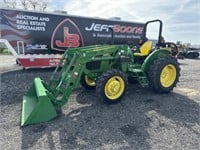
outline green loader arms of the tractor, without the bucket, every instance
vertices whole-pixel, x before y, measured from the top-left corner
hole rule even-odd
[[[47,94],[56,107],[61,107],[67,103],[71,92],[79,85],[83,72],[88,72],[86,64],[88,62],[100,61],[101,66],[95,73],[103,72],[111,67],[111,64],[105,63],[109,60],[117,60],[119,55],[119,46],[91,46],[88,48],[77,48],[68,50],[65,57],[61,60],[64,65],[60,71],[54,72],[50,83],[45,87],[48,89]],[[101,56],[101,57],[99,57]],[[58,66],[59,67],[59,66]],[[89,71],[92,72],[91,70]],[[57,77],[56,74],[59,74]]]

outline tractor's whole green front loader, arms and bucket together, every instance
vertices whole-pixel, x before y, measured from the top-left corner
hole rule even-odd
[[[83,73],[89,74],[94,78],[98,77],[99,74],[111,68],[114,64],[116,65],[122,55],[123,58],[124,56],[128,57],[128,55],[132,56],[128,46],[97,45],[73,48],[66,51],[52,74],[49,83],[44,83],[39,78],[36,78],[33,86],[23,97],[21,125],[53,119],[57,116],[56,110],[68,102],[71,92],[79,85]],[[100,65],[96,69],[89,70],[87,63],[90,62],[99,62]],[[118,64],[116,66],[120,67]],[[123,68],[123,65],[121,67]],[[43,91],[43,95],[38,91]],[[44,108],[45,111],[41,111]],[[42,114],[50,115],[42,118]]]

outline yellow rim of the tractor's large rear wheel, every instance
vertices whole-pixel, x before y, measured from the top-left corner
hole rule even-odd
[[[160,81],[163,87],[170,87],[176,79],[176,68],[174,65],[166,65],[160,74]]]

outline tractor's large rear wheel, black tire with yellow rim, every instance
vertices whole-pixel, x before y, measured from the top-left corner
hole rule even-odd
[[[160,57],[148,71],[149,85],[157,93],[168,93],[176,86],[180,77],[180,67],[172,56]]]

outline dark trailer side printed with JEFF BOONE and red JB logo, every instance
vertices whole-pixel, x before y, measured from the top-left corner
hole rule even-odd
[[[63,53],[70,47],[99,44],[136,45],[143,23],[0,9],[1,38],[25,54]],[[113,43],[114,42],[114,43]]]

